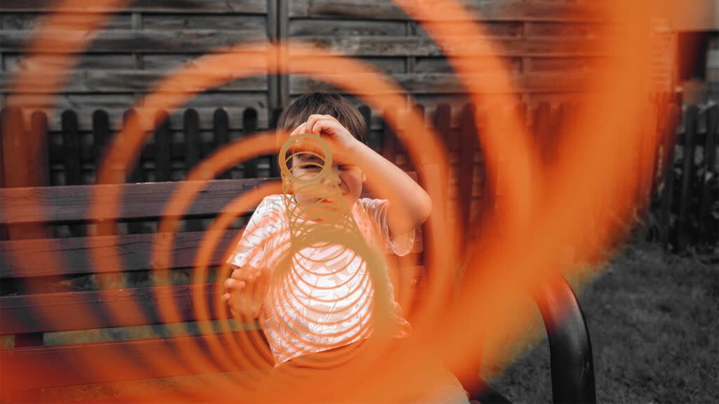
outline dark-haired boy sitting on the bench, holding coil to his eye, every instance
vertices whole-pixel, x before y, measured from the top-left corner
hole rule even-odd
[[[367,127],[359,111],[344,98],[330,93],[308,93],[285,108],[278,129],[296,134],[316,134],[331,147],[332,166],[324,185],[331,194],[297,192],[293,196],[270,195],[255,209],[244,234],[228,262],[232,276],[225,281],[223,299],[233,313],[260,319],[270,344],[275,367],[320,359],[331,352],[350,349],[372,334],[372,280],[366,262],[347,247],[326,246],[303,249],[292,275],[293,283],[272,284],[270,277],[290,245],[292,220],[303,225],[318,224],[321,217],[294,218],[290,212],[313,204],[339,203],[357,223],[357,229],[372,247],[383,247],[403,256],[411,251],[415,228],[429,217],[429,195],[399,167],[367,146]],[[293,155],[288,167],[296,178],[316,175],[321,159],[308,154]],[[359,198],[367,178],[383,178],[398,199]],[[293,188],[297,188],[296,185]],[[288,207],[287,205],[290,204]],[[296,209],[293,209],[296,208]],[[376,278],[375,278],[376,280]],[[394,300],[395,337],[409,335],[410,325]],[[452,375],[413,402],[467,403],[459,382]]]

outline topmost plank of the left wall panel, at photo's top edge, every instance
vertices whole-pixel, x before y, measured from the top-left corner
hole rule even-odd
[[[265,0],[137,0],[117,6],[70,2],[62,6],[52,0],[3,0],[3,12],[74,12],[74,13],[209,13],[209,14],[265,14]]]

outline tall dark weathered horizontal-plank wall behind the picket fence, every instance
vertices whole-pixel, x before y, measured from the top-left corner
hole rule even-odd
[[[598,17],[602,2],[464,0],[488,35],[498,45],[510,72],[518,101],[530,109],[541,101],[557,104],[582,91],[582,75],[601,63],[592,41],[607,35],[611,26]],[[2,88],[9,91],[18,69],[44,68],[57,60],[43,50],[42,61],[30,65],[24,45],[40,16],[52,12],[52,1],[4,0],[0,6]],[[79,19],[100,9],[72,10]],[[67,86],[53,105],[58,110],[109,111],[112,122],[158,79],[216,47],[254,39],[289,37],[310,40],[331,52],[362,58],[391,75],[408,93],[408,103],[434,113],[441,102],[464,103],[464,88],[438,47],[421,28],[390,0],[202,0],[134,1],[116,14],[78,57]],[[447,24],[454,24],[448,22]],[[265,55],[248,55],[264,58]],[[490,74],[492,72],[482,72]],[[227,109],[230,127],[241,128],[242,110],[257,109],[260,128],[267,127],[268,109],[281,107],[306,91],[326,88],[303,77],[250,78],[198,94],[188,107],[198,109],[203,127],[211,111]],[[32,90],[42,92],[42,86]],[[33,109],[32,93],[17,94],[20,104]],[[459,108],[455,109],[459,111]],[[203,113],[207,112],[207,113]],[[458,116],[452,126],[458,126]],[[173,117],[173,127],[180,127]],[[88,129],[90,122],[79,122]],[[60,128],[59,114],[50,128]]]

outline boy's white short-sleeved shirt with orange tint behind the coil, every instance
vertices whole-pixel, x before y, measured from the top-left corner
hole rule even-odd
[[[286,259],[290,226],[283,195],[266,196],[255,209],[228,262],[271,271]],[[370,247],[403,256],[414,244],[415,232],[390,237],[389,201],[359,198],[352,216]],[[312,221],[305,221],[310,224]],[[351,344],[372,333],[375,282],[387,288],[396,337],[408,336],[410,325],[401,315],[386,270],[370,276],[367,262],[342,245],[304,247],[292,255],[291,269],[272,283],[260,309],[259,321],[275,357],[275,366],[302,355]],[[386,268],[386,265],[385,267]],[[374,272],[373,272],[374,273]],[[274,272],[273,272],[273,275]]]

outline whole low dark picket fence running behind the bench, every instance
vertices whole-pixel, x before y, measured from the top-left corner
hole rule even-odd
[[[682,250],[689,244],[716,239],[717,234],[717,111],[713,106],[689,106],[684,114],[677,104],[669,102],[667,96],[654,98],[656,106],[656,136],[661,144],[651,156],[655,168],[651,180],[651,199],[649,219],[651,231],[649,237],[660,241],[667,249]],[[416,106],[423,113],[423,106]],[[452,106],[440,104],[433,114],[432,121],[449,151],[449,161],[454,167],[454,178],[449,184],[449,198],[458,193],[471,193],[471,206],[462,206],[462,217],[472,220],[479,215],[482,195],[493,189],[492,181],[487,181],[482,170],[482,155],[477,143],[474,106],[467,104],[462,109],[459,127],[452,127]],[[545,162],[556,157],[554,134],[562,131],[563,125],[570,121],[576,105],[560,104],[551,106],[543,102],[528,114],[527,106],[519,104],[521,116],[533,134],[535,155]],[[377,129],[371,121],[371,111],[367,106],[360,108],[368,127]],[[496,116],[491,107],[482,109],[480,119]],[[27,112],[27,111],[25,111]],[[274,127],[280,110],[269,114],[269,126]],[[402,111],[388,111],[400,114]],[[127,120],[133,111],[127,111]],[[29,122],[23,116],[30,116]],[[157,112],[157,127],[145,145],[132,173],[118,173],[117,180],[128,182],[161,182],[182,180],[188,170],[214,150],[230,142],[231,137],[242,137],[260,129],[258,112],[245,109],[241,116],[242,133],[233,134],[229,128],[229,116],[224,109],[216,109],[211,121],[211,131],[201,129],[201,116],[195,109],[183,112],[183,128],[170,130],[168,115]],[[79,119],[91,121],[91,131],[78,129]],[[208,119],[204,117],[203,119]],[[120,122],[111,122],[103,110],[94,111],[92,116],[78,116],[75,111],[66,110],[61,115],[62,129],[51,131],[47,126],[47,116],[43,111],[24,114],[19,109],[2,111],[3,142],[1,186],[52,186],[84,185],[95,182],[95,170],[102,160],[106,142],[119,127]],[[83,125],[87,126],[87,125]],[[401,127],[401,126],[400,126]],[[482,124],[480,122],[480,128]],[[480,129],[481,130],[481,129]],[[405,170],[414,170],[406,151],[398,142],[398,137],[383,122],[379,130],[370,134],[370,146],[385,158],[395,162]],[[674,147],[672,147],[674,146]],[[714,152],[711,152],[714,151]],[[10,172],[10,167],[27,167],[27,170]],[[273,156],[267,155],[242,162],[220,178],[265,178],[278,177],[279,170]],[[464,199],[468,200],[468,199]],[[186,221],[188,230],[202,229],[206,221],[193,219]],[[43,234],[27,234],[3,229],[3,239],[36,237],[77,237],[86,232],[99,231],[93,226],[71,224],[55,226]],[[104,229],[105,234],[134,234],[151,232],[156,227],[152,222],[119,224],[118,229]]]

